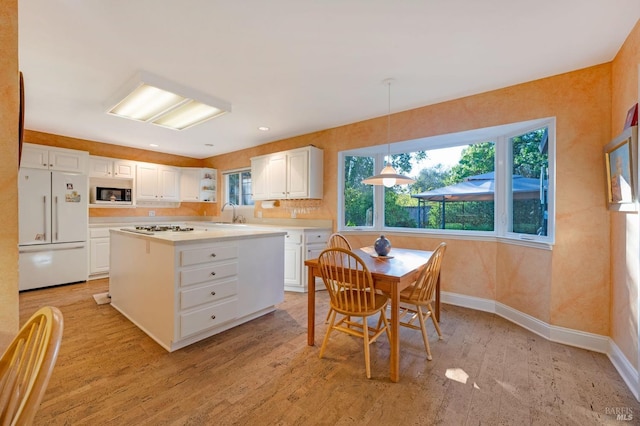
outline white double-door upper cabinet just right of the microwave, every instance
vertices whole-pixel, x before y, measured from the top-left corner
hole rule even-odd
[[[138,163],[136,199],[142,201],[180,201],[180,169],[161,164]]]

